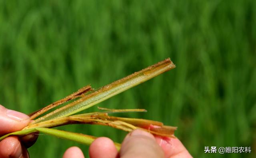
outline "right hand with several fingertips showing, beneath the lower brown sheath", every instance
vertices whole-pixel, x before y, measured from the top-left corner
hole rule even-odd
[[[127,134],[120,152],[114,142],[106,137],[94,140],[89,148],[90,158],[192,158],[178,138],[153,136],[143,130]],[[71,147],[63,158],[84,158],[80,148]]]

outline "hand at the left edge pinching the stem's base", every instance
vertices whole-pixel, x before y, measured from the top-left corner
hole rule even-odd
[[[22,130],[29,122],[28,115],[6,109],[0,105],[0,136],[4,134]],[[18,138],[9,136],[0,142],[0,158],[28,158],[28,150],[37,139],[37,135],[28,134]],[[22,143],[21,143],[22,142]]]

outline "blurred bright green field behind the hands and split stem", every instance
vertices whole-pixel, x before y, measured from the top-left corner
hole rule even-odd
[[[29,114],[170,57],[176,69],[98,106],[147,109],[120,116],[178,126],[194,157],[253,157],[204,154],[204,146],[251,146],[255,154],[255,8],[254,0],[0,0],[0,104]],[[126,134],[96,125],[60,129],[116,142]],[[47,135],[29,151],[61,157],[74,145],[88,154]]]

